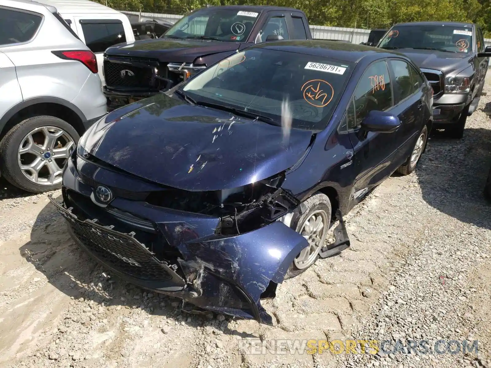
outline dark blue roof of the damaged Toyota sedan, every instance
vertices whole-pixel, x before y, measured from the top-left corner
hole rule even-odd
[[[375,58],[377,58],[377,54],[380,54],[380,58],[389,56],[402,56],[406,58],[406,56],[401,53],[396,53],[385,49],[378,49],[375,47],[352,43],[324,40],[272,41],[257,44],[255,46],[251,46],[251,48],[264,48],[313,56],[324,56],[354,63],[359,62],[363,57],[366,56],[375,56]]]

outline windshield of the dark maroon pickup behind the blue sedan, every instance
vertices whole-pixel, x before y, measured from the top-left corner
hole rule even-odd
[[[259,13],[237,9],[200,9],[181,18],[162,37],[244,42]]]

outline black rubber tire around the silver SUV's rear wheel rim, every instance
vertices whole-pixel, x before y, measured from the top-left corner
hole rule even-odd
[[[12,185],[32,193],[42,193],[61,187],[61,183],[52,185],[36,184],[27,179],[17,162],[19,146],[30,131],[40,127],[55,127],[65,131],[74,141],[79,142],[80,136],[70,124],[54,116],[34,116],[28,118],[5,134],[0,141],[0,172]]]

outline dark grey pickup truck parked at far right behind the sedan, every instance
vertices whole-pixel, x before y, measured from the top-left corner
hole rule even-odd
[[[414,61],[433,87],[433,128],[462,138],[467,117],[479,104],[491,56],[482,29],[472,23],[401,23],[392,26],[377,47]]]

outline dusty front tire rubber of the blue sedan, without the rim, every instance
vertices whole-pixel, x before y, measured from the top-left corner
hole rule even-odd
[[[327,218],[328,224],[326,230],[326,236],[324,237],[324,241],[326,240],[328,230],[330,228],[331,222],[331,201],[326,194],[321,192],[315,192],[311,197],[307,198],[304,202],[300,204],[300,206],[294,211],[293,217],[290,223],[290,227],[294,229],[296,232],[300,233],[300,230],[303,226],[303,223],[306,219],[308,219],[312,213],[317,210],[321,210],[325,212],[325,216]],[[324,241],[321,243],[321,247],[324,246]],[[297,257],[297,256],[296,256]],[[315,257],[315,260],[309,264],[307,267],[299,269],[295,263],[293,262],[288,271],[286,272],[285,279],[290,279],[292,277],[300,275],[300,273],[305,272],[312,264],[314,264],[319,256]]]

